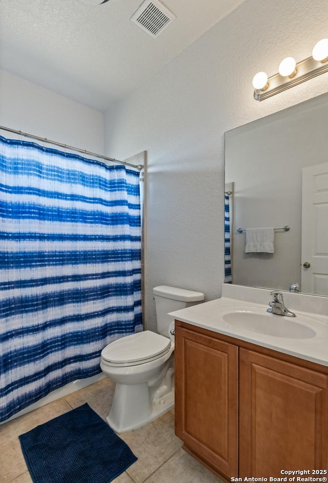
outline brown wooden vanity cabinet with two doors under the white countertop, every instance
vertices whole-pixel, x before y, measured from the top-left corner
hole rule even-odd
[[[175,339],[187,451],[229,479],[328,468],[328,367],[179,321]]]

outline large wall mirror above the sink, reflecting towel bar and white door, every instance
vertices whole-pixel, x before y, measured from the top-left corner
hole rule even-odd
[[[227,132],[225,159],[232,283],[328,297],[328,93]],[[260,227],[274,253],[245,253]]]

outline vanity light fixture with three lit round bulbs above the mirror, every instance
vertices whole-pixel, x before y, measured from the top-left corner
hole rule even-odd
[[[297,63],[293,57],[283,59],[278,74],[268,78],[265,72],[258,72],[253,78],[254,99],[267,99],[324,72],[328,72],[328,38],[319,40],[311,57]]]

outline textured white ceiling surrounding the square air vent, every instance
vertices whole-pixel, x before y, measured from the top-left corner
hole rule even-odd
[[[0,68],[106,111],[242,2],[165,0],[153,38],[130,20],[142,0],[0,0]]]

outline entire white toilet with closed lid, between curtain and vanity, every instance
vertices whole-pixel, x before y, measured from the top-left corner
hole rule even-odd
[[[174,321],[168,312],[204,299],[201,292],[167,285],[155,287],[153,295],[159,333],[126,335],[101,351],[100,368],[116,383],[106,418],[116,433],[140,428],[174,406]]]

